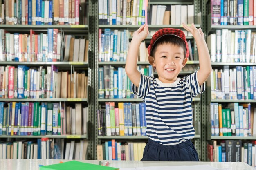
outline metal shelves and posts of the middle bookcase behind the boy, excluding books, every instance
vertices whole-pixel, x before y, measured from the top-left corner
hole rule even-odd
[[[98,10],[98,2],[95,1],[95,10],[97,11]],[[189,5],[189,4],[193,4],[194,5],[194,20],[195,20],[195,23],[197,23],[197,20],[200,18],[197,14],[200,12],[200,9],[201,9],[201,6],[200,6],[200,1],[199,0],[175,0],[175,1],[168,1],[168,0],[150,0],[149,1],[149,5],[176,5],[176,4],[182,4],[182,5]],[[98,12],[95,14],[95,17],[98,18]],[[200,19],[199,19],[200,20]],[[111,31],[112,30],[119,30],[119,31],[122,31],[124,29],[128,29],[129,31],[136,31],[138,28],[139,28],[139,25],[101,25],[99,24],[99,20],[95,20],[95,25],[96,25],[96,30],[95,30],[95,69],[94,69],[94,72],[95,72],[95,79],[98,80],[98,69],[99,67],[103,67],[103,66],[106,66],[106,65],[111,65],[113,67],[124,67],[125,66],[125,62],[121,61],[121,62],[116,62],[116,61],[110,61],[110,62],[103,62],[103,61],[99,61],[98,60],[98,48],[97,48],[97,45],[98,45],[98,37],[99,37],[99,32],[98,32],[98,29],[102,29],[102,31],[106,28],[110,28]],[[198,22],[198,24],[195,24],[196,27],[201,27],[201,22]],[[172,27],[172,28],[177,28],[177,29],[182,29],[184,30],[180,25],[149,25],[149,29],[151,31],[157,31],[159,29],[162,29],[162,28],[167,28],[167,27]],[[145,39],[145,42],[146,44],[150,41],[150,36],[148,36],[146,39]],[[193,36],[186,36],[187,39],[191,39],[193,41]],[[132,36],[129,37],[129,40],[132,39]],[[147,45],[146,45],[147,47]],[[198,56],[197,56],[197,49],[195,47],[195,43],[194,43],[194,48],[195,48],[195,53],[194,53],[194,60],[195,61],[188,61],[187,65],[193,65],[193,66],[198,66],[199,65],[199,61],[198,61]],[[137,65],[139,66],[148,66],[149,63],[148,61],[146,62],[137,62]],[[191,74],[192,72],[191,71],[184,71],[182,72],[183,75],[188,75],[188,74]],[[137,141],[139,139],[139,141],[147,141],[146,139],[147,136],[98,136],[98,123],[97,123],[97,110],[99,108],[101,108],[101,105],[104,105],[104,102],[132,102],[132,103],[139,103],[139,102],[142,102],[143,100],[139,99],[139,98],[132,98],[132,99],[128,99],[128,98],[124,98],[124,99],[100,99],[98,98],[98,81],[95,81],[95,84],[94,84],[94,87],[95,87],[95,131],[94,131],[94,135],[95,135],[95,148],[98,144],[101,144],[102,142],[104,141],[109,141],[111,139],[116,139],[117,141],[125,141],[124,139],[128,139],[129,141]],[[195,147],[198,151],[198,154],[199,154],[199,157],[201,155],[201,153],[203,152],[202,151],[202,148],[201,148],[201,140],[202,140],[202,136],[200,135],[201,134],[201,100],[202,98],[194,98],[193,99],[193,107],[194,107],[194,113],[195,113],[195,116],[194,116],[194,121],[195,121],[195,124],[194,124],[194,127],[195,127],[195,139],[193,140],[194,141],[194,144],[195,144]],[[116,105],[116,103],[115,103]],[[204,149],[204,148],[203,148]],[[97,155],[97,151],[95,150],[95,159],[97,158],[96,155]]]

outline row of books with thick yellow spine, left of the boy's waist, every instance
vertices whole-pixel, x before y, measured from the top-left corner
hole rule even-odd
[[[106,102],[97,110],[99,136],[146,136],[146,104]]]

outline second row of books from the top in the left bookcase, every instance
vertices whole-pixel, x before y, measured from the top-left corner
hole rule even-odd
[[[65,40],[64,40],[65,39]],[[10,34],[0,29],[0,61],[88,61],[89,40],[63,35],[58,29],[47,34]]]

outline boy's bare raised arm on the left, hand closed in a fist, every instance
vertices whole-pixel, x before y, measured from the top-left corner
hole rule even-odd
[[[137,58],[139,53],[139,45],[142,40],[148,36],[148,25],[142,25],[135,33],[133,34],[132,42],[128,50],[126,57],[125,71],[127,76],[130,78],[132,83],[139,86],[140,73],[137,70]]]

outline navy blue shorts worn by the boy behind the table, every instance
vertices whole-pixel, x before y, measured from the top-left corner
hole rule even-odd
[[[199,161],[199,158],[190,140],[177,145],[162,145],[148,139],[141,161]]]

